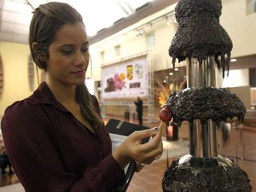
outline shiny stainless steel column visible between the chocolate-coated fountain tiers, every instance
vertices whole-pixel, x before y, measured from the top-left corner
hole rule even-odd
[[[214,57],[199,61],[196,58],[187,58],[187,87],[215,87]],[[195,119],[189,124],[189,153],[194,157],[212,158],[218,156],[217,126],[208,119],[201,124]]]

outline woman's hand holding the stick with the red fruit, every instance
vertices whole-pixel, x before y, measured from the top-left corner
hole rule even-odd
[[[148,143],[142,143],[143,138],[147,137],[150,137]],[[152,128],[133,132],[113,151],[113,158],[119,163],[121,169],[124,169],[131,160],[135,160],[137,165],[143,166],[159,159],[162,153],[160,128]]]

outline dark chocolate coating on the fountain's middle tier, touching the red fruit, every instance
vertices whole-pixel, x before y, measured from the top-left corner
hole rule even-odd
[[[171,108],[173,121],[177,125],[181,125],[184,120],[193,122],[194,119],[201,119],[202,125],[207,124],[207,119],[212,119],[217,125],[234,117],[243,121],[247,111],[236,94],[213,87],[187,88],[174,92],[165,105]]]

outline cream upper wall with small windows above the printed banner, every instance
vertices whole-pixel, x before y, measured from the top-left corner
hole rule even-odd
[[[170,6],[165,9],[162,15],[170,13],[174,10],[175,6]],[[159,14],[155,14],[158,15]],[[151,19],[154,15],[151,15]],[[148,20],[144,20],[144,24]],[[138,24],[137,24],[138,25]],[[143,25],[143,21],[140,22],[140,25]],[[132,28],[132,27],[131,27]],[[108,64],[111,61],[116,61],[131,55],[136,55],[144,51],[150,51],[151,62],[154,71],[164,70],[172,67],[172,58],[168,55],[168,49],[171,43],[171,40],[176,32],[177,24],[172,23],[171,26],[166,25],[166,20],[161,20],[152,25],[145,26],[145,33],[142,35],[137,35],[137,30],[130,30],[129,32],[124,32],[125,35],[116,35],[112,38],[106,39],[102,42],[92,44],[90,46],[90,55],[92,58],[93,65],[99,67],[99,70],[96,70],[92,74],[92,78],[95,80],[101,79],[101,66]],[[125,31],[125,29],[124,29]],[[146,34],[154,32],[154,46],[148,46],[146,43]],[[122,33],[122,32],[119,32]],[[114,46],[120,44],[121,55],[115,55]],[[102,61],[101,52],[104,51],[105,58]]]

